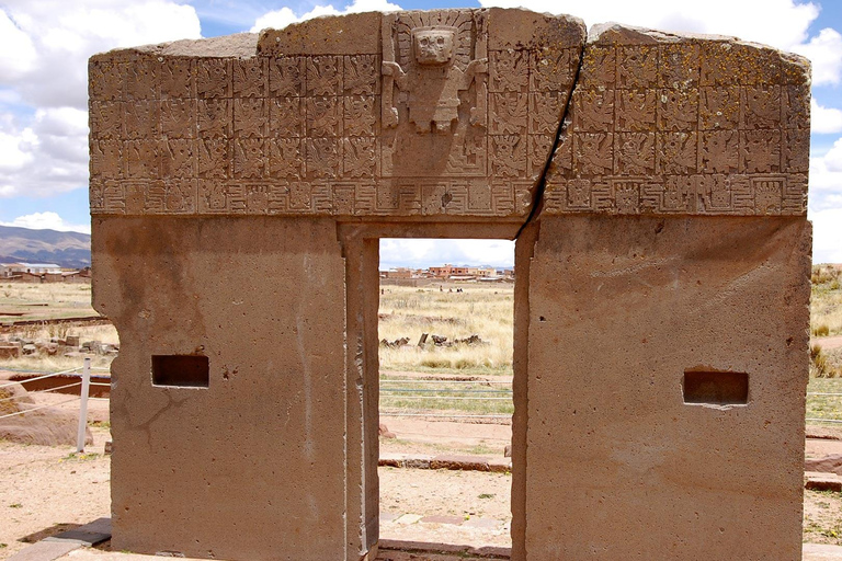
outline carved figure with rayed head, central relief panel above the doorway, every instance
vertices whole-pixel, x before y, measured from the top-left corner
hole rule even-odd
[[[402,12],[383,26],[384,175],[485,175],[485,14]],[[420,152],[433,158],[418,162]]]

